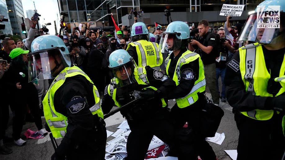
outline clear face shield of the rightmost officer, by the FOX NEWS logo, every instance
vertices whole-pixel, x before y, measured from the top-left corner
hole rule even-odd
[[[260,26],[261,24],[257,24],[257,14],[249,15],[246,21],[246,24],[243,26],[243,29],[238,36],[238,43],[245,41],[253,41],[265,44],[277,44],[284,43],[285,40],[285,26],[282,17],[284,17],[284,13],[281,12],[280,15],[280,28],[257,28],[257,27],[265,27]],[[274,24],[266,24],[266,25],[274,25]]]

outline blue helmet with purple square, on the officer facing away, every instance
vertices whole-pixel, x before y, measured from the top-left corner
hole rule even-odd
[[[138,40],[149,40],[149,34],[146,24],[142,22],[137,22],[132,25],[131,30],[131,41],[136,42]]]

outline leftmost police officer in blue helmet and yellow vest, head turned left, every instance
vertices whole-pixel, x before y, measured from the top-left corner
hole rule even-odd
[[[63,137],[55,159],[105,157],[106,128],[97,88],[54,35],[35,38],[28,55],[29,81],[55,78],[43,100],[44,116],[54,138]],[[43,76],[39,76],[42,74]]]

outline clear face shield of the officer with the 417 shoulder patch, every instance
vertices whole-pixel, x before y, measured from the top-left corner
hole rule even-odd
[[[180,49],[182,38],[179,39],[176,36],[177,33],[162,33],[158,46],[159,51],[161,53],[170,53],[171,51]]]

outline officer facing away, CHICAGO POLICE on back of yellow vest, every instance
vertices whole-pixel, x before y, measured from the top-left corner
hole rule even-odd
[[[149,33],[147,26],[142,22],[132,25],[131,43],[127,47],[130,56],[133,57],[136,64],[141,66],[150,66],[159,70],[163,58],[158,51],[158,44],[149,42]]]

